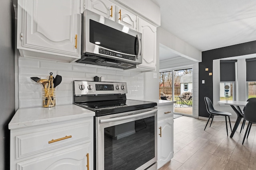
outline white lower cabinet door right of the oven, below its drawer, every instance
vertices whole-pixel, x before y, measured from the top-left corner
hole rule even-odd
[[[160,168],[173,158],[173,117],[158,121],[158,161]]]

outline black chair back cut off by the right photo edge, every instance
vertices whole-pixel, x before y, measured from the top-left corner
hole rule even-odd
[[[248,102],[244,109],[244,120],[256,123],[256,101]]]

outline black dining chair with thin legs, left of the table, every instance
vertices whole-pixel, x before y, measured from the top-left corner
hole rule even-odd
[[[205,102],[205,105],[206,105],[206,110],[210,114],[209,119],[208,119],[208,121],[207,121],[207,123],[205,125],[204,130],[206,129],[206,126],[208,125],[208,122],[209,122],[211,116],[212,116],[212,120],[213,120],[214,116],[225,116],[225,119],[226,119],[226,129],[227,129],[227,135],[228,135],[227,116],[228,116],[228,120],[229,120],[230,129],[232,131],[232,127],[231,127],[231,123],[230,123],[230,116],[232,114],[228,113],[228,112],[224,112],[224,111],[217,111],[217,110],[215,110],[213,105],[212,105],[212,101],[208,97],[204,97],[204,102]],[[211,121],[210,127],[211,127],[211,125],[212,125],[212,121]]]

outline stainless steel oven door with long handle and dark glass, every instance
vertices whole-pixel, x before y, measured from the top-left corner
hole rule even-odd
[[[156,170],[157,109],[96,117],[97,170]]]

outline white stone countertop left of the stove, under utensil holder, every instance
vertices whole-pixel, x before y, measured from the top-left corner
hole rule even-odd
[[[16,111],[8,128],[16,129],[94,115],[94,111],[74,104],[57,105],[55,107],[24,107]]]

